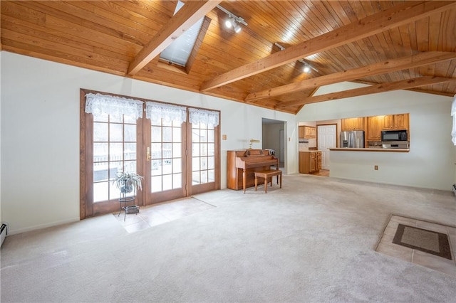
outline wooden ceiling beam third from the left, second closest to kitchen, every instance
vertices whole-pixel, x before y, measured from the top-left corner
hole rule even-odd
[[[452,60],[455,58],[456,52],[453,53],[430,51],[418,53],[415,55],[402,57],[398,59],[385,60],[383,62],[374,63],[371,65],[363,66],[361,68],[353,68],[352,70],[343,70],[338,73],[332,73],[317,78],[306,79],[300,82],[290,83],[280,87],[274,87],[269,90],[263,90],[261,92],[252,92],[251,94],[247,95],[245,101],[252,102],[254,100],[260,100],[268,97],[276,97],[279,95],[285,95],[292,92],[299,92],[301,90],[317,88],[322,85],[338,83],[341,81],[356,80],[372,75],[380,75],[383,73],[393,73],[398,70],[418,68],[419,66],[438,63],[446,60]]]

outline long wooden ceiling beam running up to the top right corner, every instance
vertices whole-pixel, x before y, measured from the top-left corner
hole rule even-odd
[[[343,46],[344,44],[387,31],[390,28],[420,20],[421,18],[440,13],[452,7],[456,7],[456,1],[405,1],[404,4],[393,6],[393,8],[386,11],[362,18],[359,21],[342,26],[341,28],[336,28],[321,36],[311,38],[296,46],[291,46],[290,48],[286,48],[286,50],[269,55],[266,58],[261,58],[253,63],[234,68],[234,70],[230,70],[222,75],[217,75],[211,80],[202,83],[200,91],[212,90],[216,87],[263,73],[266,70],[277,68],[295,60],[306,58],[309,55]]]

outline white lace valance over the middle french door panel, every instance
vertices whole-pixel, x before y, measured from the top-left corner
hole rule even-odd
[[[167,122],[174,121],[182,124],[182,122],[187,121],[187,107],[157,102],[145,102],[145,117],[152,121],[164,119]]]

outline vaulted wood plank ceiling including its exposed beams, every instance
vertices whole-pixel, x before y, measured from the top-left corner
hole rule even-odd
[[[185,2],[173,16],[177,1],[2,0],[1,49],[292,114],[388,90],[456,94],[456,1]],[[248,25],[225,28],[217,4]],[[159,60],[202,16],[191,65]],[[348,80],[372,86],[313,96]]]

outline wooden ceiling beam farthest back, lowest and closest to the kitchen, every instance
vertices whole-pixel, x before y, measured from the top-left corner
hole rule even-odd
[[[382,83],[368,87],[355,88],[353,90],[343,90],[342,92],[331,92],[329,94],[307,97],[296,101],[282,102],[276,106],[276,109],[284,109],[286,107],[296,105],[306,105],[309,103],[338,100],[348,97],[358,97],[361,95],[371,95],[376,94],[378,92],[390,92],[391,90],[408,90],[413,87],[434,85],[438,83],[447,83],[452,81],[456,81],[456,78],[425,76],[410,80],[400,80],[392,83]]]

